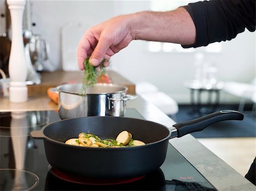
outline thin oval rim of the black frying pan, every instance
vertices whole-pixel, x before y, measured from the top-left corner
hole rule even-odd
[[[46,126],[44,126],[41,130],[42,130],[42,133],[44,135],[44,140],[47,140],[49,142],[53,142],[53,143],[57,143],[58,145],[61,145],[61,146],[68,146],[68,147],[72,147],[72,148],[79,148],[81,150],[136,150],[136,149],[139,149],[139,148],[146,148],[146,147],[151,147],[151,146],[154,146],[160,142],[164,142],[166,141],[166,139],[170,139],[171,137],[171,130],[169,128],[167,128],[166,126],[162,125],[162,124],[159,124],[158,122],[155,122],[155,121],[148,121],[148,120],[144,120],[144,119],[140,119],[140,118],[133,118],[133,117],[121,117],[121,118],[130,118],[130,119],[133,119],[133,120],[138,120],[138,121],[148,121],[148,122],[152,122],[152,123],[155,123],[156,125],[161,125],[163,126],[163,128],[165,128],[166,130],[169,131],[169,134],[163,138],[163,139],[160,139],[159,141],[155,141],[155,142],[152,142],[152,143],[147,143],[146,145],[142,145],[142,146],[132,146],[132,147],[115,147],[115,148],[112,148],[112,147],[81,147],[81,146],[75,146],[75,145],[68,145],[66,143],[63,143],[63,142],[60,142],[60,141],[56,141],[54,139],[51,139],[49,137],[47,137],[45,134],[44,134],[44,130],[50,126],[50,125],[53,125],[53,124],[56,124],[58,122],[61,122],[61,121],[66,121],[66,120],[76,120],[76,119],[79,119],[79,118],[120,118],[120,117],[115,117],[115,116],[87,116],[87,117],[76,117],[76,118],[67,118],[67,119],[64,119],[64,120],[60,120],[60,121],[55,121],[55,122],[52,122],[50,124],[47,124]]]

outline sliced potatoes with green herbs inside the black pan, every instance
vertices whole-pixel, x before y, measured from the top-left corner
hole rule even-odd
[[[128,131],[122,131],[118,134],[116,139],[100,139],[97,135],[89,133],[80,133],[78,138],[68,139],[68,145],[82,146],[82,147],[133,147],[145,145],[144,142],[134,140],[133,135]]]

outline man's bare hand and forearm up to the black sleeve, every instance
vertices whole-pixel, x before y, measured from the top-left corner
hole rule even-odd
[[[183,7],[174,11],[142,11],[116,16],[86,31],[77,50],[79,68],[84,69],[83,62],[89,55],[93,66],[100,65],[104,58],[104,66],[108,66],[110,57],[132,40],[192,45],[196,40],[196,28]]]

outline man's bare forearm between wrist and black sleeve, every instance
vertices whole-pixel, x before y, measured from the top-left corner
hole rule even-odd
[[[183,7],[174,11],[143,11],[131,15],[131,35],[134,40],[162,41],[193,45],[196,28]]]

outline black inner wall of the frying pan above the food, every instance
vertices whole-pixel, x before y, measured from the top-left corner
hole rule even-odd
[[[152,143],[167,138],[170,131],[152,121],[127,117],[82,117],[54,122],[43,130],[46,137],[59,142],[77,138],[79,133],[93,133],[101,139],[113,138],[123,131],[129,131],[134,139]]]

